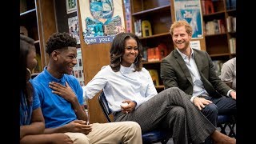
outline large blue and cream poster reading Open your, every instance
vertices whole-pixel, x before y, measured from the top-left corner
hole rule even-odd
[[[112,42],[125,30],[122,0],[79,0],[79,9],[87,45]]]

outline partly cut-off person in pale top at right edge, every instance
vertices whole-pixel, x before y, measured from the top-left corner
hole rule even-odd
[[[222,65],[220,78],[232,89],[236,90],[236,58],[231,58]]]

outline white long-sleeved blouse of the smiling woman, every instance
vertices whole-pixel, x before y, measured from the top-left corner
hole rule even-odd
[[[93,98],[103,89],[112,112],[120,111],[120,104],[124,100],[137,102],[137,108],[158,92],[148,70],[133,70],[134,64],[121,66],[118,72],[114,72],[110,66],[103,66],[86,86],[82,86],[84,99]]]

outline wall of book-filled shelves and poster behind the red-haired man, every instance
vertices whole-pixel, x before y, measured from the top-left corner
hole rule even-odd
[[[207,7],[205,6],[206,2],[208,2]],[[211,5],[209,5],[209,2]],[[194,37],[190,46],[206,50],[214,64],[216,64],[216,71],[219,74],[222,62],[226,62],[236,55],[235,2],[236,0],[188,0],[187,2],[177,0],[130,0],[132,30],[142,42],[143,66],[147,70],[154,70],[154,75],[158,74],[159,82],[155,82],[158,92],[164,89],[159,77],[162,51],[166,49],[167,54],[169,54],[170,51],[174,50],[169,33],[170,26],[177,20],[176,18],[185,17],[184,15],[175,16],[175,9],[177,13],[182,13],[183,9],[187,10],[190,15],[185,19],[190,19],[189,16],[195,13],[195,9],[200,14],[198,26],[201,28],[202,36],[200,37],[199,34],[198,38]],[[191,10],[185,8],[186,5],[190,4],[195,4],[194,11],[192,8]],[[162,49],[162,47],[164,48]],[[163,54],[163,57],[165,56],[166,54]]]

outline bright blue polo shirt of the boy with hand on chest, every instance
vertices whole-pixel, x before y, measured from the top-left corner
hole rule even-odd
[[[32,84],[38,93],[46,128],[63,126],[77,119],[71,103],[58,94],[52,93],[53,90],[50,89],[49,82],[58,82],[63,86],[66,86],[66,82],[68,82],[74,94],[78,97],[80,105],[83,104],[82,87],[77,78],[68,74],[63,74],[60,79],[54,78],[45,67],[42,73],[32,80]]]

